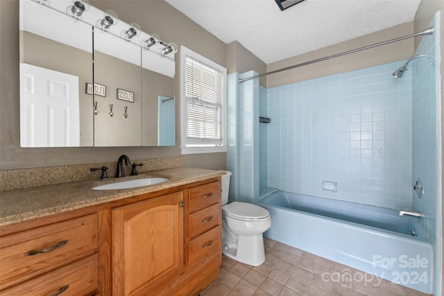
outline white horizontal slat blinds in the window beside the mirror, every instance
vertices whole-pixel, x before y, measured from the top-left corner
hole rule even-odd
[[[217,146],[222,139],[222,73],[186,58],[187,146]]]

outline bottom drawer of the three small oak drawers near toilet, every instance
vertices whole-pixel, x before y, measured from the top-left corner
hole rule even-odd
[[[206,259],[221,253],[221,225],[201,234],[188,243],[188,262],[202,263]]]

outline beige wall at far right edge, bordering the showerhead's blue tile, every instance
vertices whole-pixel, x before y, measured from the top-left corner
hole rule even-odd
[[[444,98],[444,60],[443,60],[443,52],[444,52],[444,1],[437,1],[437,0],[422,0],[420,3],[420,6],[418,8],[418,11],[416,12],[415,20],[414,20],[414,28],[416,32],[422,31],[425,28],[427,28],[430,24],[430,21],[432,21],[432,17],[434,17],[435,13],[437,11],[441,10],[441,102]],[[415,39],[415,49],[418,46],[419,42],[421,40],[421,37],[417,37]],[[441,155],[443,155],[443,147],[444,147],[444,106],[443,103],[441,103]],[[442,163],[441,168],[444,168],[444,157],[441,157]],[[444,174],[441,174],[442,181],[441,184],[444,184]],[[443,194],[443,193],[442,193]],[[444,229],[444,195],[441,196],[441,230]],[[444,268],[444,238],[441,234],[441,275],[443,275],[443,268]],[[441,293],[444,291],[444,281],[441,282]]]

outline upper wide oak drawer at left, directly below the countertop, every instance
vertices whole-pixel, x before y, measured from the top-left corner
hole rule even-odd
[[[94,254],[97,215],[5,236],[0,247],[0,289],[3,289]]]

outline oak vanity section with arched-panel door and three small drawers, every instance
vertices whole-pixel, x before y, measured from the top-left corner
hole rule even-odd
[[[112,210],[113,295],[198,295],[219,276],[221,182]]]

